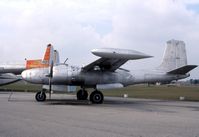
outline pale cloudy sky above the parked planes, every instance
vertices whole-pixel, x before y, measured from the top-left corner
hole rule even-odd
[[[185,42],[188,64],[199,64],[198,0],[0,1],[0,62],[42,58],[51,43],[69,64],[87,65],[97,59],[90,50],[112,47],[154,56],[123,66],[151,69],[171,39]]]

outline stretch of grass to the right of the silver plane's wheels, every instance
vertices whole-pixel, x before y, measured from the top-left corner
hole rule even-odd
[[[122,97],[128,94],[133,98],[145,99],[164,99],[164,100],[179,100],[180,96],[185,97],[185,100],[199,101],[199,86],[130,86],[122,89],[106,90],[103,92],[105,96]]]

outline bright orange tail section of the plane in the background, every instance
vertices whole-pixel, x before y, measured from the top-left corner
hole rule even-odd
[[[53,56],[54,56],[53,46],[49,44],[47,45],[43,60],[42,59],[27,60],[26,69],[49,67],[50,64],[52,63]]]

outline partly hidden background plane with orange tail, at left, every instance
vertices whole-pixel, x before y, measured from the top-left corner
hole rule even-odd
[[[54,56],[52,56],[52,54],[54,54]],[[58,51],[53,50],[53,46],[49,44],[47,45],[43,59],[25,60],[23,64],[0,64],[0,86],[21,80],[22,78],[18,75],[20,75],[26,69],[48,68],[50,66],[52,57],[54,57],[55,63],[59,63]]]

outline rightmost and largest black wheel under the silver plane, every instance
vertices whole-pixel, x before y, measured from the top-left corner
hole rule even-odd
[[[100,91],[93,91],[90,95],[90,101],[94,104],[102,104],[104,101],[104,95]]]

